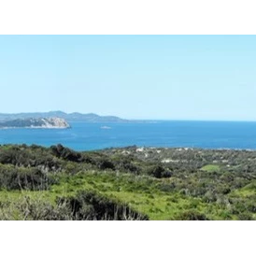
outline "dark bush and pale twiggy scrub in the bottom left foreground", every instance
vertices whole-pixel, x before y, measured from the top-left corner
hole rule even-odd
[[[23,196],[0,206],[1,220],[148,220],[129,206],[116,203],[95,192],[78,192],[57,198],[55,204],[40,197]]]

